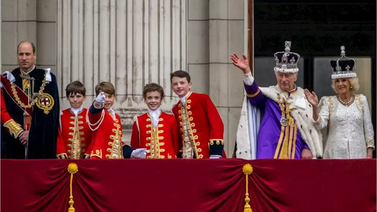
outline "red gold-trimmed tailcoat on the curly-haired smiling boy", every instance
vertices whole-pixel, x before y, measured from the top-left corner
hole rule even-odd
[[[149,113],[140,115],[133,123],[131,146],[134,149],[147,148],[150,152],[147,158],[177,158],[179,137],[175,117],[161,112],[158,126],[153,129]]]

